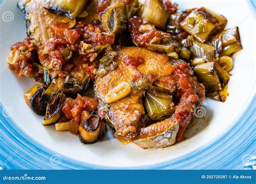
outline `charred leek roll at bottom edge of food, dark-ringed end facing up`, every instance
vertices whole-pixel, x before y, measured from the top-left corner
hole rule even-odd
[[[92,114],[87,121],[80,123],[78,131],[78,137],[82,143],[93,143],[104,136],[105,123],[99,119],[98,115]]]

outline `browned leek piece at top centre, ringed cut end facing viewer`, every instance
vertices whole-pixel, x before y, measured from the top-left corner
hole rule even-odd
[[[104,30],[109,34],[123,33],[127,27],[125,3],[113,4],[104,11],[102,16]]]

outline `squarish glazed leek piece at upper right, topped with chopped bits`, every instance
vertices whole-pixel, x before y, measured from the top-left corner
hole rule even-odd
[[[202,7],[192,11],[181,22],[181,27],[201,43],[204,43],[211,33],[218,33],[223,30],[226,23],[225,17]]]

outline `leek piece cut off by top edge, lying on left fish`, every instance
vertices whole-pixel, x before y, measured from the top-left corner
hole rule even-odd
[[[45,7],[52,13],[65,15],[70,19],[76,19],[82,14],[87,0],[53,0],[49,7]]]

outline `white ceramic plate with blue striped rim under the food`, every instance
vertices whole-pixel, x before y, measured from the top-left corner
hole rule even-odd
[[[33,113],[23,99],[35,82],[17,79],[5,61],[11,45],[26,37],[23,14],[16,8],[17,1],[0,3],[3,168],[242,168],[248,158],[253,159],[255,17],[249,1],[176,1],[181,10],[205,6],[224,15],[226,28],[239,26],[244,49],[234,56],[227,101],[206,99],[201,109],[204,117],[196,118],[186,131],[186,140],[147,150],[134,144],[123,146],[111,130],[103,140],[82,145],[69,132],[43,126],[43,117]]]

